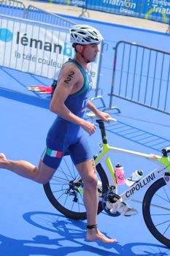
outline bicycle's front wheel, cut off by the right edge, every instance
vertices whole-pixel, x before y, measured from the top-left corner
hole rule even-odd
[[[152,236],[170,247],[170,197],[163,178],[159,178],[147,189],[142,212],[144,222]]]

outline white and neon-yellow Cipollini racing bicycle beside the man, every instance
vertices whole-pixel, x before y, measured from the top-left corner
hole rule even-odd
[[[94,118],[92,114],[88,116]],[[102,139],[100,151],[94,156],[98,176],[98,214],[104,211],[111,217],[120,216],[121,213],[116,207],[110,209],[108,205],[116,206],[117,200],[125,202],[147,187],[142,200],[144,222],[152,236],[170,247],[170,147],[163,148],[161,155],[155,155],[109,146],[104,121],[96,119],[96,122]],[[156,168],[119,193],[120,186],[117,185],[115,168],[110,158],[116,152],[148,159],[156,163]],[[69,152],[63,157],[53,178],[43,186],[47,198],[58,211],[71,219],[86,219],[83,181],[69,157]]]

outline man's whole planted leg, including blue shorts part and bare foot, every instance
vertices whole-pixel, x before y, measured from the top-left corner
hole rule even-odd
[[[87,211],[88,225],[96,225],[98,211],[98,178],[96,176],[93,154],[90,150],[88,138],[84,133],[82,133],[77,143],[69,146],[69,152],[84,183],[83,197]],[[87,239],[88,241],[98,240],[104,243],[114,243],[116,241],[115,239],[109,239],[104,236],[98,228],[88,228]]]

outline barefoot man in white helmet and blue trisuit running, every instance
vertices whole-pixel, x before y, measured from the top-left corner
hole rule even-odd
[[[99,111],[89,100],[92,82],[88,64],[95,61],[100,42],[100,32],[92,26],[76,25],[70,30],[74,59],[63,64],[58,76],[57,87],[50,102],[50,110],[57,114],[47,133],[47,147],[39,161],[39,167],[26,161],[12,161],[0,154],[0,167],[20,176],[46,184],[52,178],[66,151],[69,151],[74,165],[84,183],[84,203],[87,211],[87,239],[115,243],[107,238],[97,226],[98,191],[96,167],[85,135],[93,135],[96,126],[83,119],[85,108],[98,118],[108,122],[108,113]],[[55,156],[55,157],[54,157]]]

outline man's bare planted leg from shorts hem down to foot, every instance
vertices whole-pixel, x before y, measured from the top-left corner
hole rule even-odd
[[[97,210],[98,210],[98,192],[97,192],[97,176],[96,167],[93,159],[82,162],[76,165],[77,170],[82,177],[84,183],[84,203],[87,211],[88,225],[97,224]],[[115,239],[107,238],[98,228],[91,228],[87,230],[88,241],[101,241],[104,243],[115,243]]]

